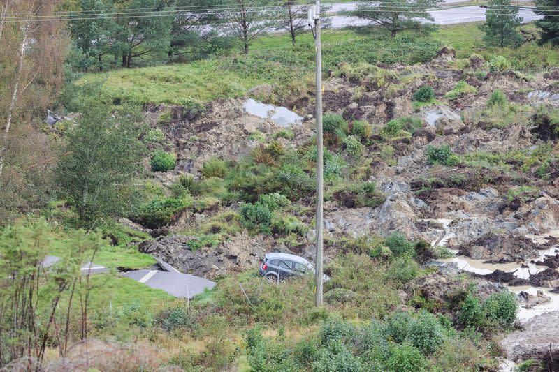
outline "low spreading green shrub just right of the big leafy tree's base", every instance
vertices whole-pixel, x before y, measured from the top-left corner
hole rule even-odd
[[[191,198],[158,198],[138,207],[136,221],[147,228],[155,229],[170,223],[171,217],[182,208],[192,204]]]

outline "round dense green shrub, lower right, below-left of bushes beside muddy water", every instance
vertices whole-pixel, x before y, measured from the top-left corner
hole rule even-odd
[[[423,310],[410,322],[407,339],[424,354],[431,354],[442,344],[443,332],[437,317]]]

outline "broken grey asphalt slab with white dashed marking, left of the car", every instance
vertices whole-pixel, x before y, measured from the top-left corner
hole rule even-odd
[[[126,272],[124,276],[179,298],[191,299],[205,289],[211,290],[215,287],[213,281],[177,271],[134,270]]]

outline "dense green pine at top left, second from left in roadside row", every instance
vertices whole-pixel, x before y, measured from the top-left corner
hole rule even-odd
[[[134,12],[134,9],[144,9]],[[122,50],[122,67],[131,67],[136,57],[163,58],[168,55],[173,25],[173,6],[161,0],[132,0],[124,9],[133,15],[117,18],[121,27],[117,39]],[[149,11],[150,16],[144,12]]]

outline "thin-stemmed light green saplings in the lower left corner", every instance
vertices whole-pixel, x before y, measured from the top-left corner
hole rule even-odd
[[[82,293],[91,290],[91,273],[84,275],[80,267],[102,244],[99,232],[73,232],[60,259],[45,269],[45,255],[55,248],[48,223],[19,223],[0,231],[0,366],[14,361],[17,367],[8,365],[7,371],[42,371],[48,345],[56,345],[61,357],[66,355],[78,295],[82,321],[87,321],[87,297]]]

